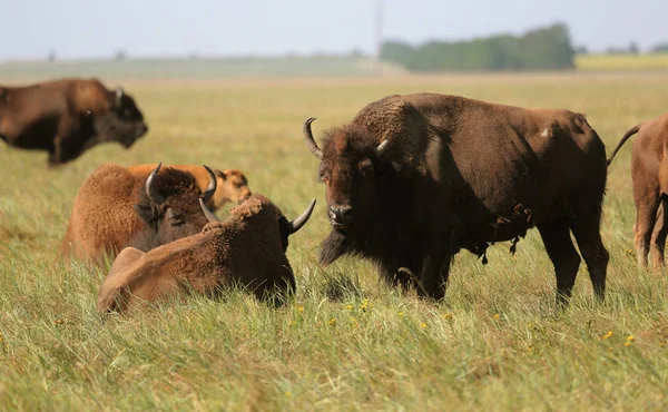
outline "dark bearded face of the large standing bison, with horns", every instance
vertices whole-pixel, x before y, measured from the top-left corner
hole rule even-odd
[[[376,192],[383,187],[385,170],[381,155],[387,145],[380,145],[362,127],[345,127],[331,130],[321,150],[311,133],[313,118],[304,124],[306,145],[322,160],[318,175],[326,185],[327,215],[332,228],[346,232],[352,227],[363,228],[372,218],[379,198]]]

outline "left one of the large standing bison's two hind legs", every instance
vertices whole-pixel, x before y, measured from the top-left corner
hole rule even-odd
[[[546,251],[557,275],[557,304],[566,305],[571,295],[578,266],[580,266],[580,255],[570,238],[570,228],[568,222],[563,218],[556,219],[538,225],[538,230],[542,237]]]

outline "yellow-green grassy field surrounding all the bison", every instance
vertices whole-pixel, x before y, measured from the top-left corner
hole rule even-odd
[[[112,86],[112,85],[109,85]],[[513,257],[458,255],[446,302],[403,296],[371,265],[322,269],[324,186],[301,127],[347,121],[390,94],[433,91],[586,112],[610,150],[668,110],[668,73],[434,76],[382,79],[130,81],[151,131],[130,150],[100,146],[46,168],[46,154],[0,146],[1,410],[666,410],[668,277],[639,269],[630,144],[610,167],[602,235],[606,303],[583,265],[568,310],[536,230]],[[79,185],[105,161],[243,169],[288,217],[298,292],[271,310],[242,293],[102,321],[105,271],[56,251]],[[481,159],[484,161],[484,159]],[[223,214],[224,215],[224,214]]]

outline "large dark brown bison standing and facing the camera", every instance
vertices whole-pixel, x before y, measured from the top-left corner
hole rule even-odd
[[[587,262],[593,291],[606,290],[608,252],[599,234],[606,148],[584,116],[456,96],[390,96],[315,143],[332,232],[321,263],[352,254],[381,276],[443,298],[453,256],[484,256],[537,226],[566,303]]]

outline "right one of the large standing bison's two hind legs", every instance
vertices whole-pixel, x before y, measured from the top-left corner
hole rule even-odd
[[[606,277],[610,254],[601,239],[600,220],[590,216],[576,218],[571,228],[584,263],[587,263],[593,293],[599,301],[602,301],[606,295]]]

